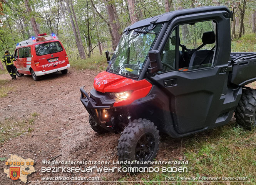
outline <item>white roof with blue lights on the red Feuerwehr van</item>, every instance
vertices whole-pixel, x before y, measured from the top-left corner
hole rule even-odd
[[[57,36],[54,33],[50,34],[50,35],[47,35],[46,33],[41,33],[41,34],[38,34],[37,37],[32,37],[28,40],[21,41],[20,43],[17,43],[16,49],[17,49],[17,47],[29,46],[32,44],[41,43],[41,42],[45,42],[45,41],[52,41],[52,40],[58,40]]]

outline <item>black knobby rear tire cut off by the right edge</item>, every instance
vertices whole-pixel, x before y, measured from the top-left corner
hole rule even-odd
[[[236,122],[245,126],[248,129],[252,129],[256,126],[256,90],[248,88],[243,89],[243,93],[239,104],[235,110],[234,117]]]

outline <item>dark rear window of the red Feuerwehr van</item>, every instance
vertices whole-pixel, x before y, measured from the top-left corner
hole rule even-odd
[[[63,51],[60,42],[51,42],[35,45],[35,53],[37,54],[37,56],[47,55],[60,51]]]

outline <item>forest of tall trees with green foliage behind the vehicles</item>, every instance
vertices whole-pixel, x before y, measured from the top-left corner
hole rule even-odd
[[[0,54],[5,50],[13,54],[18,42],[38,33],[54,33],[69,59],[87,59],[105,50],[113,52],[123,30],[136,21],[169,11],[216,5],[234,12],[232,40],[239,43],[246,35],[255,43],[255,0],[0,0]]]

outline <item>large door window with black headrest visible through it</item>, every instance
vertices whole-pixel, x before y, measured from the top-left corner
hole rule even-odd
[[[202,21],[179,26],[179,71],[202,69],[214,65],[216,23]]]

